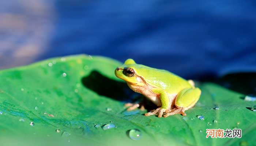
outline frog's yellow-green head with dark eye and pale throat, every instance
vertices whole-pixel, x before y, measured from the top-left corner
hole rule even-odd
[[[133,59],[127,59],[123,65],[118,66],[115,70],[115,74],[118,78],[130,84],[143,85],[142,78],[137,74],[140,65],[136,64]]]

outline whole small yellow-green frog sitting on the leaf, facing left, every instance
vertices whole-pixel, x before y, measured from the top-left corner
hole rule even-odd
[[[201,90],[193,80],[184,78],[163,69],[151,68],[129,58],[114,71],[116,77],[124,80],[132,91],[140,93],[157,105],[157,109],[144,114],[159,118],[181,114],[194,107],[200,98]],[[127,110],[135,110],[139,103],[127,103]]]

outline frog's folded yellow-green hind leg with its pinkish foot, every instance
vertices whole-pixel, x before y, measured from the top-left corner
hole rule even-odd
[[[196,102],[199,100],[201,95],[201,90],[199,88],[186,88],[183,89],[180,93],[178,93],[175,99],[175,107],[171,110],[167,110],[164,117],[175,115],[175,114],[182,114],[183,116],[187,115],[185,113],[186,110],[192,108]]]

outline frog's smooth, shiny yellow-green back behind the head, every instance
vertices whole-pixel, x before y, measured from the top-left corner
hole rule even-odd
[[[164,89],[168,93],[178,93],[184,88],[191,88],[191,84],[182,77],[177,76],[167,70],[141,66],[137,72],[139,76],[146,77],[144,80],[155,88]]]

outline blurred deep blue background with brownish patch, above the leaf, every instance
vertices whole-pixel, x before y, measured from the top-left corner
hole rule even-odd
[[[256,1],[0,1],[0,69],[82,53],[201,80],[255,72]]]

